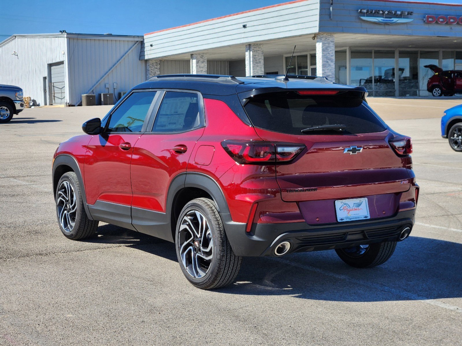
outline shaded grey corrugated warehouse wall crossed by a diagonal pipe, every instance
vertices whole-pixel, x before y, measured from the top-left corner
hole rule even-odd
[[[136,43],[128,40],[103,40],[69,38],[70,104],[75,104],[81,95],[89,91],[109,69]],[[118,98],[120,91],[128,91],[146,80],[146,65],[140,60],[141,43],[90,92],[108,92],[104,84],[109,83],[109,92]],[[113,84],[117,83],[114,90]]]

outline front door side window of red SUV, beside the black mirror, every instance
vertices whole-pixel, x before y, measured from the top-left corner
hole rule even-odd
[[[140,132],[156,91],[134,92],[111,114],[108,132]]]

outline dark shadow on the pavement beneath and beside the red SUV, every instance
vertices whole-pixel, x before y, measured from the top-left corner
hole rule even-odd
[[[177,262],[173,243],[122,227],[102,225],[85,241],[123,244]],[[461,298],[461,257],[462,244],[413,236],[374,268],[352,268],[334,250],[244,257],[235,282],[215,292],[348,302]]]

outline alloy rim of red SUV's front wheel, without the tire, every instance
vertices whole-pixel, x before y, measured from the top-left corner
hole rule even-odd
[[[77,215],[77,197],[72,185],[67,180],[64,180],[59,186],[56,209],[62,229],[65,233],[71,233]]]

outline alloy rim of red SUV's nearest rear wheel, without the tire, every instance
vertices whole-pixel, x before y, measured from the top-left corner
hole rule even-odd
[[[181,262],[195,279],[204,277],[213,259],[212,231],[206,217],[198,210],[184,215],[178,234]]]

